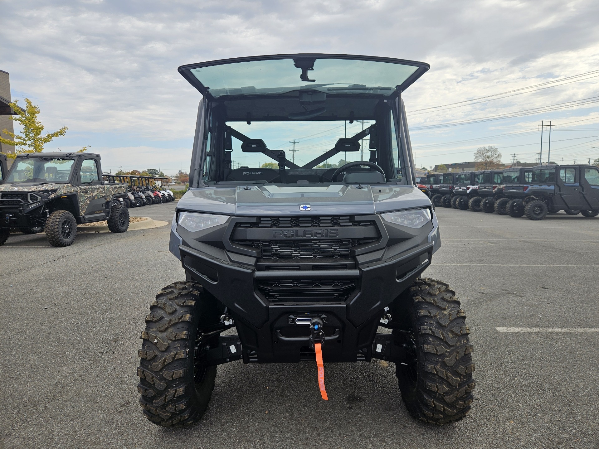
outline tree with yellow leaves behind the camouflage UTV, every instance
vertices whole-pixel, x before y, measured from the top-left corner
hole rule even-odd
[[[13,145],[15,147],[16,154],[23,153],[40,153],[44,150],[44,145],[52,141],[53,138],[63,136],[68,126],[56,130],[55,132],[47,132],[42,135],[44,131],[44,125],[38,120],[40,114],[40,108],[34,105],[29,98],[25,98],[25,109],[19,107],[18,101],[9,103],[10,107],[16,111],[16,116],[10,116],[15,122],[19,122],[23,126],[23,135],[14,134],[14,132],[3,129],[2,133],[11,136],[14,140],[10,140],[2,137],[0,133],[0,142],[4,145]],[[83,153],[86,151],[88,146],[81,148],[77,153]],[[8,154],[8,157],[14,159],[16,154]]]

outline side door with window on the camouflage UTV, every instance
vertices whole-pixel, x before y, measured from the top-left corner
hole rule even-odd
[[[79,210],[86,220],[103,218],[106,211],[105,187],[95,159],[84,159],[79,169]]]

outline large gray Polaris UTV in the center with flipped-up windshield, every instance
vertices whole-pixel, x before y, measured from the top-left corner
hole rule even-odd
[[[414,417],[468,412],[464,311],[446,283],[420,277],[440,236],[401,95],[428,68],[338,54],[179,68],[202,99],[170,239],[186,280],[158,293],[141,333],[150,421],[199,420],[216,365],[234,360],[316,360],[323,399],[323,362],[388,360]]]

